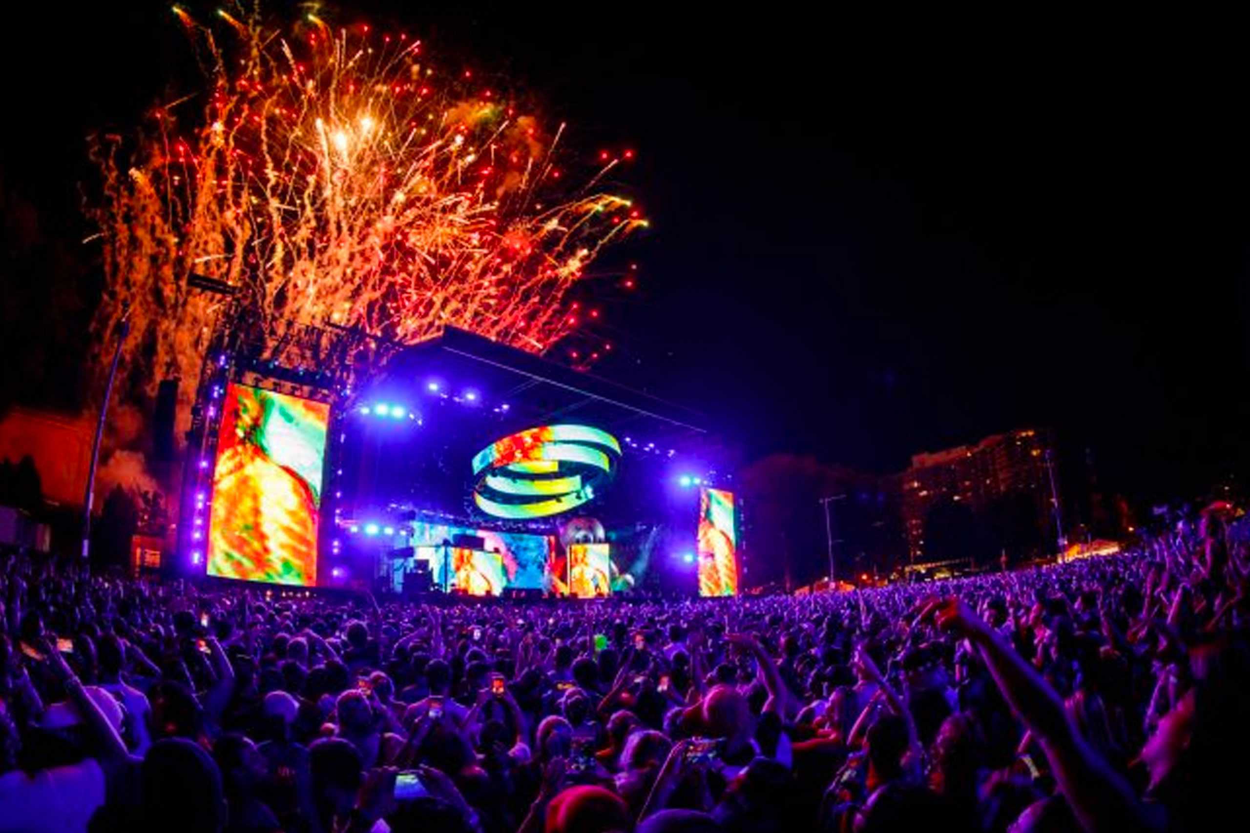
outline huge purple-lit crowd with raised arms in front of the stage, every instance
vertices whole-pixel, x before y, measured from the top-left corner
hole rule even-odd
[[[1238,826],[1250,552],[411,604],[0,561],[0,831]]]

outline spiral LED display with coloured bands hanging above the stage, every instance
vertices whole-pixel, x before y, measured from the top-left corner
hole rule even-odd
[[[544,425],[496,440],[472,458],[472,500],[498,518],[541,518],[594,500],[621,456],[616,437],[585,425]]]

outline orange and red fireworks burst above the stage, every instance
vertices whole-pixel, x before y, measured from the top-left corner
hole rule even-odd
[[[569,291],[600,249],[646,224],[604,190],[631,151],[570,187],[562,125],[430,64],[405,34],[219,12],[219,41],[175,14],[206,91],[92,149],[96,332],[129,310],[130,380],[148,393],[169,375],[194,387],[222,301],[192,274],[231,285],[272,342],[300,323],[402,342],[454,325],[541,353],[578,325]]]

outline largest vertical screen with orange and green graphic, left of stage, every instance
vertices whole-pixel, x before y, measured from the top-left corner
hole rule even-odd
[[[230,383],[218,435],[209,574],[316,583],[330,406]]]

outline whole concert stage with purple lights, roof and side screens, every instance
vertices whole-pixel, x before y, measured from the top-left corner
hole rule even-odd
[[[736,594],[741,511],[702,416],[454,328],[378,363],[314,392],[219,362],[194,566],[414,597]]]

